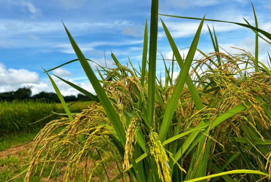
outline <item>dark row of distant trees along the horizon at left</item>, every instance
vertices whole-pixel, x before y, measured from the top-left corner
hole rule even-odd
[[[38,94],[35,94],[33,96],[32,91],[30,88],[19,88],[16,91],[10,91],[10,92],[2,92],[0,93],[0,101],[12,101],[12,100],[27,100],[27,99],[33,99],[33,100],[39,100],[39,101],[49,101],[49,102],[60,102],[59,98],[56,93],[52,92],[40,92]],[[79,93],[76,96],[70,95],[70,96],[63,96],[64,100],[66,102],[72,102],[72,101],[79,101],[82,99],[87,99],[89,97]]]

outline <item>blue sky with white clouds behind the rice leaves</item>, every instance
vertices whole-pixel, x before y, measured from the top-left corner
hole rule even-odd
[[[252,0],[259,28],[271,32],[269,0]],[[144,25],[150,20],[150,0],[0,0],[0,92],[31,87],[32,94],[54,92],[44,69],[51,69],[77,58],[62,21],[85,57],[99,65],[111,64],[111,51],[126,65],[128,56],[139,69],[141,64]],[[254,25],[250,0],[161,0],[159,13],[245,23]],[[189,47],[200,23],[198,20],[160,16],[179,49]],[[255,34],[244,27],[229,23],[205,22],[198,48],[213,51],[208,26],[214,26],[219,45],[229,53],[238,47],[254,53]],[[271,46],[259,39],[259,60],[266,63]],[[161,22],[157,49],[172,59],[172,51]],[[186,54],[188,49],[183,49]],[[157,54],[157,58],[161,56]],[[196,52],[196,58],[200,53]],[[95,69],[95,64],[90,63]],[[163,62],[157,60],[157,73],[163,75]],[[63,77],[94,93],[94,89],[78,61],[51,73]],[[98,74],[97,74],[98,75]],[[63,95],[79,92],[53,76]]]

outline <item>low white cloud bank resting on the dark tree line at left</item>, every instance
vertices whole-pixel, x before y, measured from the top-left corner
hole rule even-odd
[[[71,73],[63,68],[56,69],[55,74],[59,76],[69,76]],[[58,86],[62,95],[77,95],[80,93],[78,90],[72,88],[70,85],[59,80],[53,76],[56,85]],[[68,79],[68,81],[82,87],[83,89],[95,93],[92,85],[89,81],[86,81],[86,77],[81,78],[83,81],[75,81]],[[0,92],[10,92],[17,90],[18,88],[29,87],[32,91],[32,95],[45,92],[55,92],[49,79],[42,80],[39,78],[38,73],[29,71],[27,69],[6,69],[6,66],[0,63]]]

